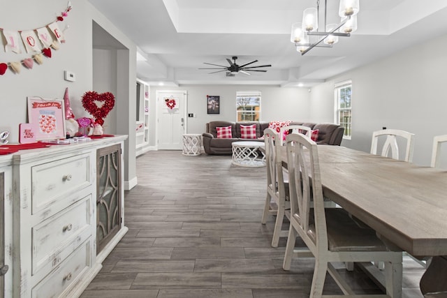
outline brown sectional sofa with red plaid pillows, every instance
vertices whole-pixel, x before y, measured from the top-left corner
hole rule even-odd
[[[249,126],[256,125],[256,139],[242,139],[241,125]],[[206,124],[205,133],[202,134],[203,149],[206,154],[214,155],[231,155],[231,143],[236,141],[260,141],[263,142],[263,134],[265,128],[268,128],[270,122],[254,121],[254,122],[232,122],[232,121],[210,121]],[[302,125],[318,129],[317,144],[328,144],[339,146],[342,143],[344,128],[337,124],[315,124],[299,121],[291,121],[289,125]],[[218,127],[231,126],[231,138],[222,139],[217,137]]]

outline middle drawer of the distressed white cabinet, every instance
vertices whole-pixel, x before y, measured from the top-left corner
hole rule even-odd
[[[91,195],[32,228],[32,274],[50,272],[91,236]]]

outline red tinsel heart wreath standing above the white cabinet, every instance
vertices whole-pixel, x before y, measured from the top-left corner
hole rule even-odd
[[[103,101],[103,105],[98,107],[95,101]],[[82,96],[82,107],[85,108],[93,117],[95,117],[95,122],[99,125],[104,124],[104,119],[112,108],[115,106],[115,96],[110,92],[105,92],[103,94],[98,94],[96,91],[87,91]]]

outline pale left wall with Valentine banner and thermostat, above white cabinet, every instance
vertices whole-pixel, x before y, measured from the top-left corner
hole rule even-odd
[[[57,15],[66,10],[68,1],[39,0],[39,1],[4,1],[0,0],[2,11],[1,27],[13,31],[37,29],[54,22]],[[51,58],[44,58],[43,64],[34,63],[29,70],[22,67],[19,74],[14,74],[10,69],[0,76],[0,131],[10,131],[11,143],[18,142],[19,124],[27,122],[27,96],[41,96],[43,98],[63,98],[64,91],[68,87],[71,107],[75,117],[90,117],[82,108],[81,97],[86,91],[93,88],[93,45],[92,22],[97,22],[111,36],[119,40],[119,43],[128,49],[127,73],[125,80],[119,80],[117,85],[127,85],[126,94],[120,94],[113,113],[120,114],[119,128],[114,128],[119,134],[129,134],[129,141],[125,148],[125,180],[135,179],[135,45],[101,13],[91,6],[87,0],[71,1],[73,9],[68,12],[64,22],[58,22],[61,29],[66,25],[69,28],[64,32],[66,43],[60,45],[59,50],[52,50]],[[20,17],[17,17],[20,15]],[[0,62],[22,61],[32,57],[22,47],[22,54],[3,51],[3,40],[0,48]],[[119,58],[117,57],[119,61]],[[119,64],[118,64],[119,65]],[[76,75],[76,82],[64,80],[64,70],[69,70]],[[132,82],[132,84],[131,84]],[[131,84],[131,88],[129,85]],[[121,105],[121,106],[120,106]],[[129,108],[129,106],[131,106]],[[131,109],[132,113],[129,112]],[[133,119],[131,118],[133,115]],[[111,115],[113,117],[113,115]],[[116,117],[115,117],[116,118]],[[112,119],[105,119],[112,121]],[[112,121],[117,122],[117,121]],[[109,124],[112,128],[112,124]],[[106,131],[107,132],[107,131]],[[124,132],[124,133],[123,133]],[[133,134],[133,135],[132,135]],[[129,146],[132,144],[132,146]]]

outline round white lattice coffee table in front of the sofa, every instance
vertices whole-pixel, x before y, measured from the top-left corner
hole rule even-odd
[[[260,147],[264,147],[263,142],[241,141],[231,143],[233,165],[263,167],[265,165],[265,154],[261,151],[262,156],[259,156],[258,149]]]

